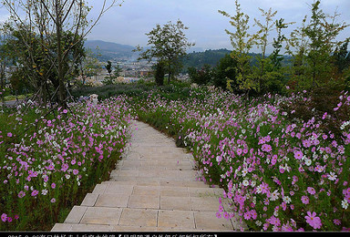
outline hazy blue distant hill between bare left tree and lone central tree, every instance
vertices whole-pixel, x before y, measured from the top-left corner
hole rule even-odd
[[[100,61],[112,60],[116,57],[133,57],[134,46],[120,45],[102,40],[87,40],[84,45],[98,56]]]

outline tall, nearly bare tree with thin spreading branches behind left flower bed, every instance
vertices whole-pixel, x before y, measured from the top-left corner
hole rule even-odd
[[[39,35],[39,45],[43,52],[48,52],[47,47],[55,45],[55,59],[49,57],[51,65],[57,70],[57,102],[60,107],[67,108],[66,85],[67,75],[74,67],[65,68],[68,55],[74,50],[74,46],[81,44],[85,36],[96,26],[99,18],[110,7],[117,4],[117,0],[113,0],[108,5],[107,0],[101,1],[102,6],[98,17],[94,21],[88,20],[88,7],[85,0],[4,0],[3,4],[7,8],[15,26],[21,29],[21,34],[26,41],[24,46],[26,50],[34,55],[32,47],[32,36]],[[65,47],[65,32],[73,34],[73,41]],[[49,55],[49,54],[48,54]],[[38,66],[36,66],[38,67]],[[47,77],[43,73],[43,81],[45,84]],[[42,85],[40,85],[42,88]]]

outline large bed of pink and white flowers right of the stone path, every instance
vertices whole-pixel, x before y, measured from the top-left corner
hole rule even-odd
[[[331,115],[291,121],[280,105],[309,100],[303,94],[267,95],[247,103],[226,92],[191,93],[193,98],[185,101],[150,94],[136,108],[139,118],[182,134],[202,180],[225,187],[232,209],[224,211],[221,205],[218,217],[227,212],[258,231],[350,227],[350,122],[342,123],[343,137],[337,137],[322,129],[325,117],[335,119]],[[349,106],[343,99],[337,108]]]

